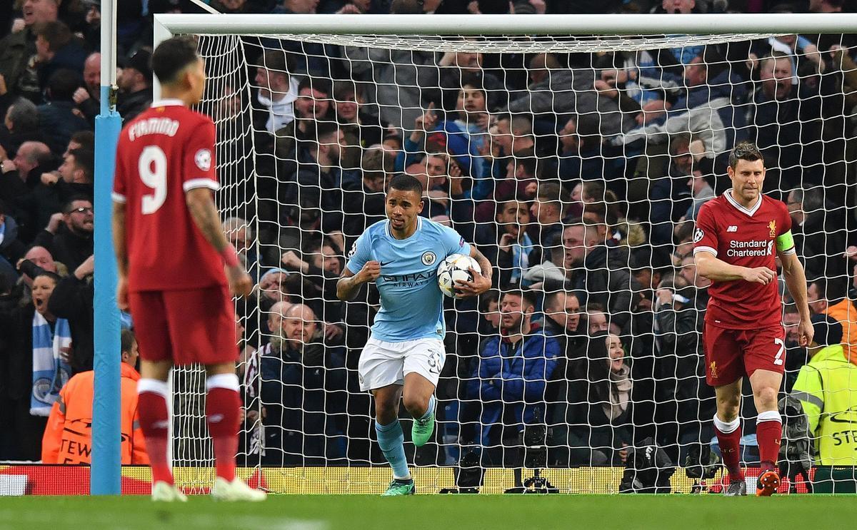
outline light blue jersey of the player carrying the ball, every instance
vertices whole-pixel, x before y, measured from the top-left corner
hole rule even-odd
[[[381,311],[375,315],[373,337],[387,342],[443,339],[446,325],[437,265],[454,253],[469,256],[470,243],[455,230],[424,217],[418,217],[417,231],[405,240],[393,237],[387,220],[363,232],[345,266],[357,274],[367,261],[381,263],[381,276],[375,280]]]

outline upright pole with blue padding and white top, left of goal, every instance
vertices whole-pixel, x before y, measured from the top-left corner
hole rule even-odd
[[[113,253],[111,213],[116,145],[122,119],[111,101],[116,77],[115,3],[105,2],[101,11],[101,113],[95,118],[95,392],[93,396],[93,460],[89,492],[92,495],[122,493],[122,432],[119,390],[121,344],[116,305],[117,265]]]

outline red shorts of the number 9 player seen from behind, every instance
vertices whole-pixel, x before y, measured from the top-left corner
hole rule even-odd
[[[143,360],[216,365],[238,357],[235,308],[226,286],[129,293]]]

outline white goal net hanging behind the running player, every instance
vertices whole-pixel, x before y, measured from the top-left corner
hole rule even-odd
[[[735,142],[755,142],[764,191],[791,212],[813,312],[848,300],[852,36],[390,35],[349,20],[360,34],[195,33],[208,75],[200,110],[218,130],[218,203],[257,282],[237,301],[240,463],[261,467],[273,491],[387,484],[357,376],[379,296],[369,286],[343,303],[335,283],[357,236],[384,218],[385,182],[406,173],[427,190],[423,217],[474,242],[495,283],[478,301],[446,300],[438,422],[424,447],[411,444],[402,409],[421,491],[504,491],[541,484],[526,482],[534,474],[566,492],[670,481],[692,491],[699,479],[717,491],[693,220],[729,188]],[[814,402],[781,287],[781,397]],[[522,288],[533,306],[529,295],[505,303]],[[847,357],[857,327],[844,329]],[[837,390],[857,395],[857,380],[844,380]],[[204,374],[177,370],[173,388],[177,476],[204,487]],[[741,457],[752,468],[757,413],[744,389]],[[797,412],[783,416],[789,436]],[[802,448],[783,443],[793,471],[812,462]]]

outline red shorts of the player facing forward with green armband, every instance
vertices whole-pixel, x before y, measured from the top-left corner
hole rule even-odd
[[[784,372],[786,331],[782,325],[758,330],[727,330],[705,323],[705,380],[722,386],[757,370]]]

